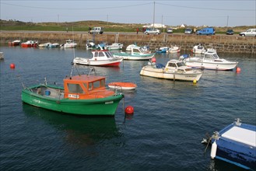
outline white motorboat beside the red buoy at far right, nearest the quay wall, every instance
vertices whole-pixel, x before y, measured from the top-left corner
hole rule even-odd
[[[192,68],[201,69],[233,70],[238,65],[237,61],[227,61],[226,59],[219,58],[214,49],[208,49],[203,56],[188,56],[188,58],[181,56],[180,59]]]

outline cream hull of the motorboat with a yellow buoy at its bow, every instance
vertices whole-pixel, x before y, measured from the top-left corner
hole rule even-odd
[[[154,77],[158,79],[173,79],[181,81],[199,81],[202,72],[191,71],[187,73],[167,72],[164,68],[153,68],[151,65],[146,65],[142,68],[140,75]]]

